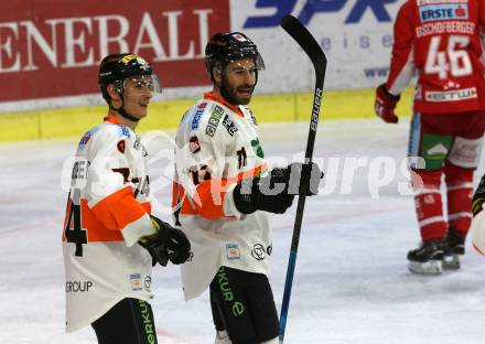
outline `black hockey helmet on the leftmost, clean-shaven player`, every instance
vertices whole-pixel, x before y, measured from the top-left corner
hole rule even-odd
[[[103,97],[110,103],[106,86],[115,84],[118,94],[123,93],[123,80],[131,76],[150,75],[151,90],[160,92],[157,75],[150,64],[137,54],[111,54],[103,58],[99,65],[98,84],[101,88]]]

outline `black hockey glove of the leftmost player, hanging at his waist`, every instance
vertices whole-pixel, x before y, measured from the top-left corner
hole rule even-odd
[[[168,260],[175,265],[185,262],[191,252],[191,243],[185,234],[153,215],[150,217],[158,233],[143,237],[138,243],[152,256],[152,265],[158,262],[164,267]]]

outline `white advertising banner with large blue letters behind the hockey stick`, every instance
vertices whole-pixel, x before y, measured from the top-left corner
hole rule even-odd
[[[234,1],[233,29],[260,46],[267,63],[261,88],[268,93],[313,88],[313,67],[292,39],[279,28],[287,13],[314,35],[328,58],[325,88],[375,87],[387,74],[392,26],[405,0]],[[237,4],[236,4],[237,3]],[[237,7],[237,11],[234,7]],[[302,56],[303,55],[303,56]]]

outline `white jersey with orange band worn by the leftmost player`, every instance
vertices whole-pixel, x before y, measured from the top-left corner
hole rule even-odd
[[[114,117],[79,141],[62,235],[67,332],[89,325],[125,298],[153,297],[152,259],[137,244],[155,232],[147,155],[138,136]]]

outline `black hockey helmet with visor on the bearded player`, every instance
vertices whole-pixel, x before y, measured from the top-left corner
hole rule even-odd
[[[257,71],[265,69],[265,61],[256,44],[241,32],[216,33],[205,46],[205,67],[214,82],[214,66],[223,69],[229,62],[252,58]]]

